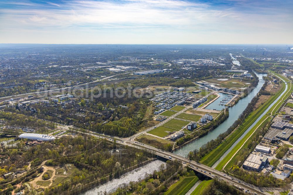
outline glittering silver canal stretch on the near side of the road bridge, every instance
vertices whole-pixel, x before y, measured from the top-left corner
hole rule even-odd
[[[115,192],[118,187],[123,187],[123,184],[129,184],[130,182],[137,182],[139,179],[144,179],[146,174],[153,174],[154,170],[159,171],[160,166],[164,164],[166,167],[166,163],[161,160],[154,160],[151,163],[134,169],[130,172],[123,174],[120,178],[112,179],[111,181],[99,185],[95,188],[92,188],[84,193],[83,195],[97,195],[104,194],[106,191],[107,194]]]

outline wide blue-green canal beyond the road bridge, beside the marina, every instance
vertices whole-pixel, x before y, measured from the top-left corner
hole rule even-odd
[[[183,146],[182,148],[174,151],[174,153],[178,154],[180,156],[183,156],[183,157],[187,157],[188,153],[190,151],[193,151],[195,149],[200,149],[200,147],[203,144],[211,141],[212,139],[216,139],[219,134],[227,131],[227,129],[234,123],[234,121],[236,121],[238,119],[239,115],[245,110],[248,103],[251,102],[252,98],[259,92],[260,88],[265,83],[265,81],[263,80],[263,76],[266,76],[266,74],[256,73],[256,76],[259,79],[259,82],[256,85],[256,87],[245,98],[240,99],[237,102],[237,104],[235,104],[233,107],[229,108],[229,117],[222,124],[220,124],[213,131],[209,132],[207,135],[205,135],[199,139],[196,139],[195,141],[190,142],[187,145]],[[214,101],[208,106],[208,108],[209,109],[217,109],[218,104],[219,103]]]

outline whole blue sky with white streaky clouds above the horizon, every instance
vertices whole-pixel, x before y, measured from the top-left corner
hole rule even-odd
[[[293,44],[293,1],[0,0],[0,43]]]

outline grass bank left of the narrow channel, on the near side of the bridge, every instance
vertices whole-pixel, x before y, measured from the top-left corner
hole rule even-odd
[[[190,188],[198,181],[198,177],[181,177],[178,182],[173,184],[164,194],[165,195],[185,195]]]

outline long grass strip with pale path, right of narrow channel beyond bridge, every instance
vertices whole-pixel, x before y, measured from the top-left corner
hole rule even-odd
[[[280,98],[280,100],[282,100],[284,97],[290,95],[290,85],[291,83],[288,85],[287,91],[282,95],[282,97]],[[275,106],[277,105],[277,107],[275,108]],[[275,105],[273,105],[270,110],[268,110],[268,114],[270,113],[275,113],[277,112],[277,110],[279,109],[279,107],[282,105],[282,101],[280,102],[276,102]],[[232,158],[232,156],[236,153],[236,151],[242,146],[242,144],[247,140],[247,138],[253,133],[253,131],[262,123],[262,122],[266,122],[268,120],[270,120],[271,118],[267,118],[268,115],[265,114],[259,121],[257,124],[255,124],[255,126],[253,126],[253,128],[241,139],[241,141],[239,141],[237,143],[237,145],[230,151],[230,153],[226,156],[226,158],[224,158],[224,160],[222,160],[216,167],[217,170],[222,170],[223,167],[226,165],[226,163]],[[267,119],[266,119],[267,118]],[[243,145],[243,147],[245,148],[247,145],[247,143],[245,143]],[[240,151],[240,150],[239,150]],[[227,164],[227,166],[225,168],[229,168],[232,166],[232,163],[234,162],[234,159],[237,157],[237,154],[231,159],[231,161]]]

